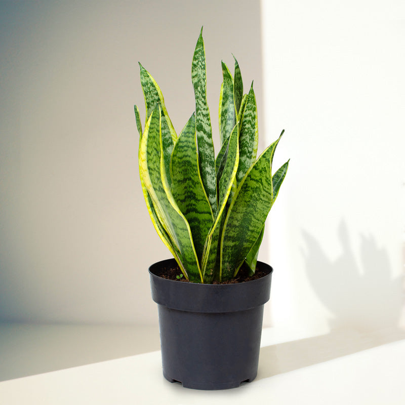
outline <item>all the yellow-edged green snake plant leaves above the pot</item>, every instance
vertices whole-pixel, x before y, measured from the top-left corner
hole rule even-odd
[[[139,63],[146,105],[140,134],[139,173],[153,225],[191,282],[212,283],[236,276],[245,263],[255,272],[266,217],[284,180],[289,161],[272,174],[283,134],[256,158],[258,125],[253,82],[243,94],[235,59],[234,74],[222,62],[219,100],[221,149],[214,153],[207,104],[205,48],[201,28],[191,79],[195,112],[176,134],[163,94]]]

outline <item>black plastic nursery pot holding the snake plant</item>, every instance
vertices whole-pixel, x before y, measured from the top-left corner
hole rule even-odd
[[[161,278],[174,259],[149,267],[152,298],[158,304],[163,375],[195,389],[227,389],[257,375],[263,307],[270,298],[268,275],[226,285]]]

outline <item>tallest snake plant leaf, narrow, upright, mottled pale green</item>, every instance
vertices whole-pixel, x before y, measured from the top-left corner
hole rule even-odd
[[[217,213],[217,183],[215,181],[215,154],[212,140],[210,110],[207,104],[206,53],[203,28],[195,46],[191,65],[191,80],[195,95],[195,126],[197,133],[199,170],[212,211]]]

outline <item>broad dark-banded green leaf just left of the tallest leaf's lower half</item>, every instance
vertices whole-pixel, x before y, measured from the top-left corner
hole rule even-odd
[[[194,114],[173,149],[171,173],[172,194],[190,225],[195,252],[200,262],[214,217],[199,176]]]

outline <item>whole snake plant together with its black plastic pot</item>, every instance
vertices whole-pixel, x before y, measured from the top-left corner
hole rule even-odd
[[[195,112],[180,135],[157,83],[139,65],[146,105],[143,131],[135,106],[141,184],[156,232],[174,257],[149,268],[163,374],[189,388],[237,387],[257,375],[272,273],[257,256],[289,165],[272,174],[282,133],[256,158],[253,82],[243,94],[236,59],[233,76],[222,62],[215,156],[202,28],[191,68]]]

